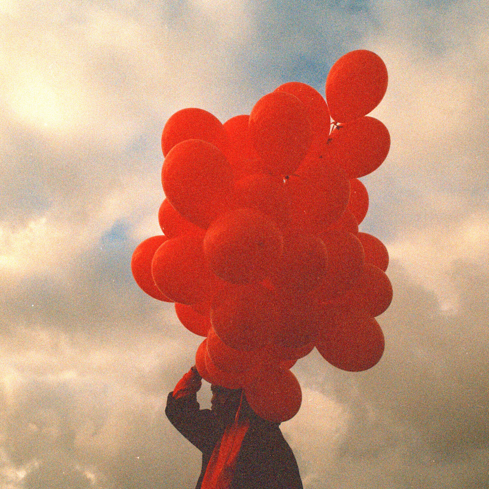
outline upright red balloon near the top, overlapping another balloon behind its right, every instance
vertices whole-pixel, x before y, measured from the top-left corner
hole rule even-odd
[[[249,115],[249,132],[263,170],[289,175],[311,146],[311,124],[304,104],[287,92],[262,97]]]

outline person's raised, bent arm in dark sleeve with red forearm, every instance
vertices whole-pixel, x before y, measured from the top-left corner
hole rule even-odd
[[[218,425],[209,409],[200,409],[197,392],[201,377],[192,367],[168,394],[165,413],[178,431],[203,453],[212,451],[219,436]]]

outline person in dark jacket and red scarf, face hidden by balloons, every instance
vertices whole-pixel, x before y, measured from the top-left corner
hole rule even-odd
[[[195,365],[168,394],[170,422],[202,452],[196,489],[302,489],[294,454],[279,423],[253,412],[241,389],[211,385],[211,409],[200,409]]]

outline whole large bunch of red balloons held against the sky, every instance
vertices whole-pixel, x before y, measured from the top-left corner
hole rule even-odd
[[[189,108],[163,129],[163,235],[135,249],[134,279],[205,336],[200,375],[243,388],[267,420],[299,410],[289,369],[314,347],[351,372],[382,356],[389,257],[358,231],[368,209],[358,178],[389,151],[389,132],[366,115],[386,88],[383,61],[357,50],[333,65],[326,100],[291,82],[249,115],[222,124]]]

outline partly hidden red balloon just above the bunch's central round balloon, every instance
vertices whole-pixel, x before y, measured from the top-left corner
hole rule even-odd
[[[244,175],[235,182],[235,195],[236,207],[263,212],[280,228],[289,224],[290,203],[281,175]]]

